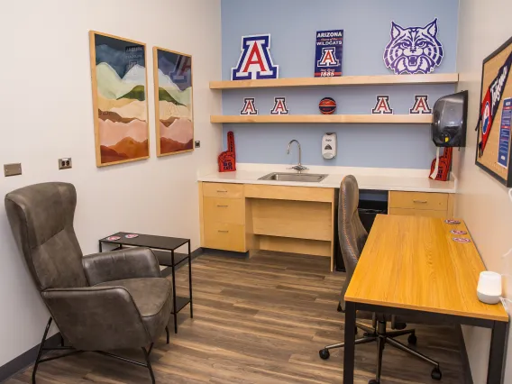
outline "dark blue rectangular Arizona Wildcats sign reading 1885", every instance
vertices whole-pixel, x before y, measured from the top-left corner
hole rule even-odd
[[[342,76],[343,30],[316,32],[315,78]]]

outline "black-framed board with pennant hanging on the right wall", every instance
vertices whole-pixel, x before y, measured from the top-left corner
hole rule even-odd
[[[483,60],[480,119],[475,163],[506,187],[512,187],[512,38]]]

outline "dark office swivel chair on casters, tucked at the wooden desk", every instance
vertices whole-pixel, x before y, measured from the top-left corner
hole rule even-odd
[[[342,298],[338,305],[338,311],[344,312],[345,306],[345,292],[352,279],[353,272],[357,266],[357,261],[361,256],[362,248],[368,238],[368,233],[361,224],[361,220],[358,214],[359,204],[359,187],[357,180],[352,175],[343,178],[342,185],[340,187],[340,205],[338,208],[338,231],[340,236],[340,245],[342,248],[343,261],[345,263],[347,278],[342,289]],[[420,352],[409,348],[407,345],[395,340],[395,337],[408,334],[407,339],[409,344],[416,344],[416,334],[414,329],[405,329],[406,322],[410,323],[421,323],[420,319],[415,319],[407,316],[396,316],[396,315],[384,315],[376,314],[365,311],[358,311],[356,314],[359,319],[368,319],[372,321],[372,326],[362,325],[356,323],[357,328],[364,331],[361,338],[356,339],[356,344],[364,344],[377,342],[378,343],[378,357],[377,357],[377,372],[375,379],[369,381],[370,384],[376,384],[380,382],[380,372],[382,370],[382,352],[386,343],[398,348],[401,351],[407,352],[416,356],[417,358],[427,361],[434,365],[432,370],[432,379],[440,380],[442,377],[441,370],[439,369],[439,363],[434,361]],[[390,322],[392,329],[398,329],[398,331],[387,332],[386,324]],[[329,359],[330,352],[334,348],[343,348],[345,343],[335,343],[333,345],[327,345],[323,350],[320,350],[320,357],[324,360]]]

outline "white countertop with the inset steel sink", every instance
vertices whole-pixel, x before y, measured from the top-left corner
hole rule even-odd
[[[242,165],[242,164],[241,164]],[[454,180],[449,181],[434,181],[425,177],[418,177],[421,172],[417,169],[382,169],[375,174],[370,174],[370,169],[346,169],[350,173],[340,172],[341,167],[333,167],[333,173],[328,172],[325,167],[322,171],[319,169],[307,170],[303,173],[327,173],[324,180],[318,183],[308,182],[291,182],[291,181],[272,181],[272,180],[259,180],[259,178],[271,173],[285,171],[282,166],[271,166],[265,164],[266,169],[255,169],[255,167],[239,167],[240,170],[234,172],[215,172],[200,176],[198,181],[215,182],[215,183],[235,183],[235,184],[265,184],[265,185],[280,185],[280,186],[293,186],[293,187],[324,187],[324,188],[339,188],[342,179],[346,175],[354,175],[357,178],[360,189],[372,190],[392,190],[392,191],[416,191],[416,192],[441,192],[441,193],[455,193],[456,183]],[[249,169],[244,169],[249,168]],[[261,166],[257,168],[262,168]],[[345,169],[343,169],[345,170]],[[390,171],[389,171],[390,170]],[[295,172],[295,170],[286,170],[287,172]],[[337,173],[340,172],[340,173]],[[359,173],[359,174],[358,174]],[[401,175],[398,175],[400,173]],[[426,175],[428,172],[425,170]]]

